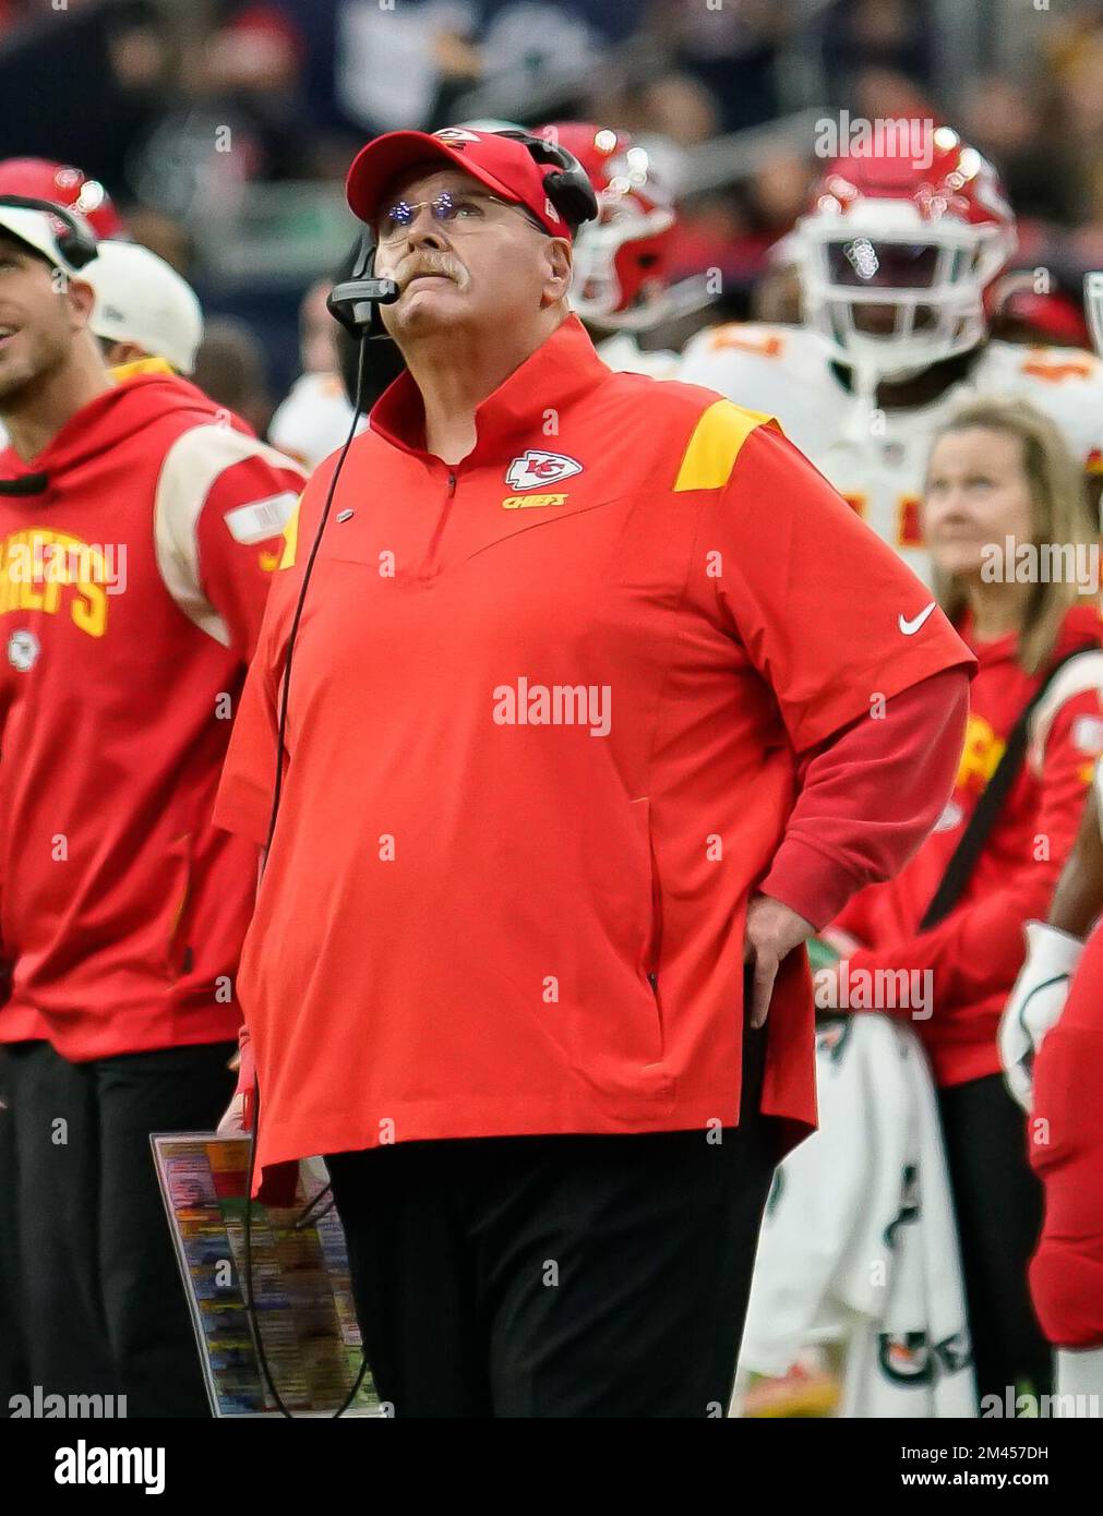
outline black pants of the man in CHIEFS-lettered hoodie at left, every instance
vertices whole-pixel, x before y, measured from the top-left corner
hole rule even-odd
[[[152,1131],[209,1131],[234,1043],[68,1063],[14,1043],[18,1310],[30,1393],[126,1395],[127,1416],[209,1416]]]

